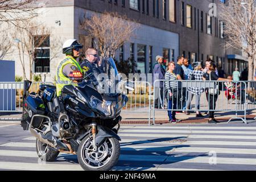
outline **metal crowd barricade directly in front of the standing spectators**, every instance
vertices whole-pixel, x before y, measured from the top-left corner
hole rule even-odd
[[[154,101],[153,101],[153,124],[155,124],[155,111],[218,111],[233,112],[236,115],[229,119],[241,119],[246,122],[246,83],[227,82],[227,81],[195,81],[195,80],[172,80],[171,88],[172,96],[164,86],[159,88],[160,81],[166,82],[170,80],[156,80],[154,82]],[[189,90],[199,90],[199,94],[191,94]],[[216,95],[209,94],[209,90],[213,92],[216,89]],[[206,92],[207,90],[207,92]],[[157,94],[157,95],[155,95]],[[168,100],[172,101],[171,107]],[[197,101],[195,101],[197,100]],[[216,100],[216,104],[214,104]],[[209,102],[210,101],[210,102]],[[190,104],[189,104],[190,103]],[[199,104],[197,104],[199,103]],[[238,112],[243,112],[244,117],[238,117]],[[224,114],[224,113],[223,113]],[[168,115],[166,113],[166,117]]]

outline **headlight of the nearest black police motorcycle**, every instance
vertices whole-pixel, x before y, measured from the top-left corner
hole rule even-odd
[[[111,115],[112,114],[112,102],[110,101],[104,101],[102,102],[101,100],[98,100],[98,98],[92,96],[90,97],[90,104],[92,105],[93,108],[101,111],[105,115]]]

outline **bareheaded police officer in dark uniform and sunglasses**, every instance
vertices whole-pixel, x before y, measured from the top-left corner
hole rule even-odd
[[[99,61],[100,57],[97,55],[96,49],[88,48],[85,51],[85,60],[82,61],[81,68],[83,69],[85,75],[91,74],[89,78],[94,84],[97,84],[97,75],[95,75],[95,73],[100,73],[100,69],[98,67]]]

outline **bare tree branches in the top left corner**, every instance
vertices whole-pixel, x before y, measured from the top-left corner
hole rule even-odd
[[[36,0],[0,0],[0,22],[22,26],[19,22],[26,22],[38,16],[36,9]]]

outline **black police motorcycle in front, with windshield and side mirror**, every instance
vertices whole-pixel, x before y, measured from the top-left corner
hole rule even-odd
[[[84,170],[97,171],[118,162],[120,113],[128,101],[122,89],[133,88],[121,81],[112,58],[101,59],[92,72],[94,79],[92,73],[85,74],[77,86],[64,86],[61,100],[54,85],[43,84],[38,93],[29,93],[32,82],[24,81],[22,127],[36,137],[41,160],[52,162],[60,152],[77,154]]]

